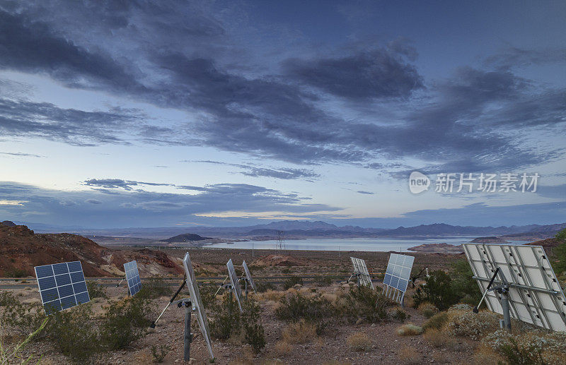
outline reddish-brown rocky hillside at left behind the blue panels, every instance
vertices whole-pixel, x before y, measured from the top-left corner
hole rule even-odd
[[[118,251],[76,234],[35,234],[23,225],[0,225],[0,276],[35,276],[34,266],[81,261],[87,277],[120,276],[136,260],[142,276],[183,273],[178,259],[161,251]]]

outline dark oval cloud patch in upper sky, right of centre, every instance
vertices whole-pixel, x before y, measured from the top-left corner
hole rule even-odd
[[[424,87],[415,66],[388,49],[337,58],[289,59],[284,68],[307,85],[352,99],[409,97]]]

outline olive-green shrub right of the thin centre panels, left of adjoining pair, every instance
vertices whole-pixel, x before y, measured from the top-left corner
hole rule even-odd
[[[305,297],[299,293],[283,297],[275,309],[275,316],[285,321],[305,320],[316,326],[320,335],[335,316],[334,307],[328,299],[320,296]]]

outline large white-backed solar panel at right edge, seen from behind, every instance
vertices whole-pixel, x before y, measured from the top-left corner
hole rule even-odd
[[[499,268],[494,285],[509,285],[509,312],[513,318],[541,328],[566,330],[566,297],[542,246],[463,244],[480,291]],[[490,291],[485,302],[490,311],[502,314],[500,294]]]

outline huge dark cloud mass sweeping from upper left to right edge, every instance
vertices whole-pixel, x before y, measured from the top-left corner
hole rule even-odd
[[[0,116],[6,134],[31,131],[88,145],[121,141],[108,130],[122,127],[146,143],[212,146],[301,164],[417,157],[431,167],[457,165],[469,172],[486,167],[515,169],[563,153],[558,147],[520,148],[519,141],[521,133],[529,132],[521,128],[544,124],[562,128],[565,90],[541,90],[501,67],[459,68],[425,90],[411,63],[415,49],[396,40],[373,50],[345,47],[340,56],[289,59],[276,75],[253,68],[244,74],[246,58],[230,44],[229,27],[206,6],[37,4],[29,11],[2,13],[4,68],[47,73],[77,88],[102,88],[198,116],[175,127],[132,123],[127,112],[77,116],[77,120],[93,117],[82,124],[69,124],[74,118],[45,123],[45,112],[21,116],[18,105],[4,107]],[[64,17],[69,22],[59,21]],[[43,23],[30,20],[35,18]],[[424,96],[413,97],[417,93]],[[399,116],[345,119],[323,104],[330,95],[350,104],[354,100],[383,103]],[[21,104],[25,110],[25,103]],[[115,123],[108,126],[109,119]],[[284,169],[246,168],[244,173],[280,179],[314,177]]]

